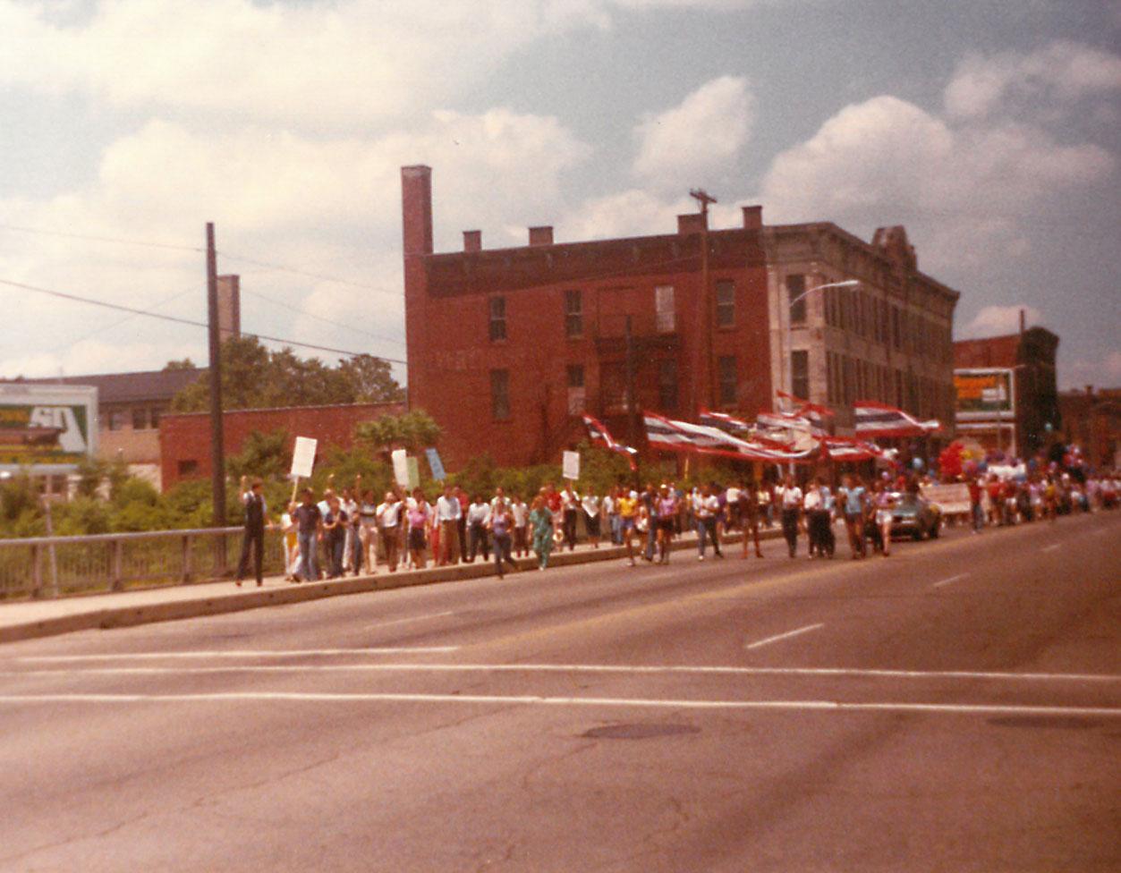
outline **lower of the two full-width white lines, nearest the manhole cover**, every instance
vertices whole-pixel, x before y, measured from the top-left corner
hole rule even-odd
[[[319,694],[235,691],[229,694],[27,694],[2,695],[0,704],[41,703],[423,703],[511,704],[541,706],[620,706],[648,709],[777,709],[818,712],[952,713],[972,715],[1097,716],[1121,718],[1121,708],[1092,706],[1022,706],[1016,704],[843,703],[840,700],[658,700],[633,697],[540,697],[483,694]]]

